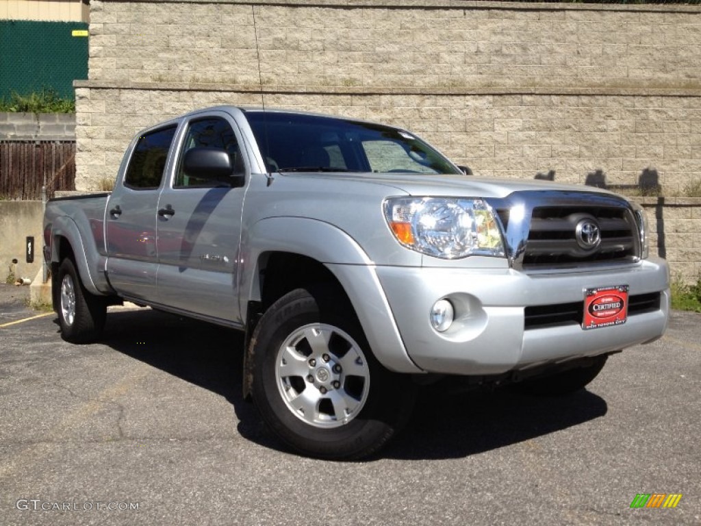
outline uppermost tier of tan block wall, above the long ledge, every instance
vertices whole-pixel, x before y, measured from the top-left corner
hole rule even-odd
[[[287,4],[287,5],[284,5]],[[698,88],[686,6],[465,1],[91,2],[90,80],[294,90]]]

